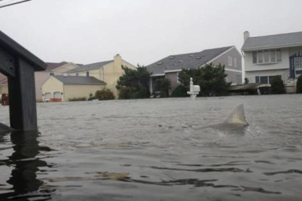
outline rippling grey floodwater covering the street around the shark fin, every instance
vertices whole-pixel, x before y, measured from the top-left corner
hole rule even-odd
[[[239,104],[249,126],[215,127]],[[8,124],[8,107],[0,107]],[[37,104],[0,134],[0,200],[302,200],[302,96]]]

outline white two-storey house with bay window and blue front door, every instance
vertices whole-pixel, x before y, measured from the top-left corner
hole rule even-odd
[[[270,85],[278,75],[287,91],[294,91],[295,78],[302,74],[302,32],[250,37],[244,32],[245,77],[250,83]],[[292,88],[291,88],[292,87]]]

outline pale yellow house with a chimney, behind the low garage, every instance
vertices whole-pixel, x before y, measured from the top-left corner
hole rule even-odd
[[[126,62],[122,57],[117,54],[113,60],[103,61],[98,63],[92,63],[83,65],[78,68],[67,71],[71,76],[92,76],[98,80],[107,83],[106,88],[109,88],[114,96],[118,97],[118,91],[116,89],[117,81],[124,74],[123,66],[135,69],[136,67],[129,62]]]

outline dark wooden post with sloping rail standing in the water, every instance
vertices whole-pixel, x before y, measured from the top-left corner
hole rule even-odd
[[[34,72],[46,64],[0,31],[0,72],[8,77],[9,114],[13,129],[36,130]]]

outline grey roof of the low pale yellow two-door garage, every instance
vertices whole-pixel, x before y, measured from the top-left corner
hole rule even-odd
[[[52,75],[65,85],[106,85],[107,83],[95,77]]]

